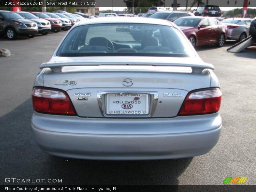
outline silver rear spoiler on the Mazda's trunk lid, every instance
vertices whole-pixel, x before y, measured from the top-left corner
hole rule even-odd
[[[156,66],[156,63],[150,62],[124,62],[124,63],[115,63],[115,62],[47,62],[42,63],[40,65],[40,69],[43,68],[50,68],[52,72],[61,72],[63,67],[70,67],[70,66],[100,66],[100,65],[145,65],[145,66]],[[204,69],[214,69],[212,64],[205,63],[202,64],[183,64],[183,63],[157,63],[157,66],[172,66],[172,67],[190,67],[192,68],[193,73],[202,73]]]

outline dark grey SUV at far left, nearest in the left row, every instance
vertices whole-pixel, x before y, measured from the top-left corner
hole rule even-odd
[[[5,34],[8,39],[15,39],[17,35],[33,38],[37,32],[36,22],[24,19],[15,12],[0,11],[0,34]]]

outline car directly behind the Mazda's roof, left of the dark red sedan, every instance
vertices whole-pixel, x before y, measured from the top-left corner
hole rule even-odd
[[[188,16],[194,16],[194,14],[191,12],[182,12],[182,11],[162,11],[162,12],[156,12],[150,15],[148,18],[175,21],[180,17],[188,17]]]

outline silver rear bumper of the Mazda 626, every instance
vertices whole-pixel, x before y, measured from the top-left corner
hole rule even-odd
[[[63,157],[108,160],[198,156],[219,140],[218,113],[165,119],[93,119],[34,112],[32,131],[45,152]]]

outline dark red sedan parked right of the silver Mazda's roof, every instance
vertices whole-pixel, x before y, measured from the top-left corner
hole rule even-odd
[[[206,44],[222,47],[227,38],[227,26],[211,17],[182,17],[174,23],[180,27],[194,47]]]

